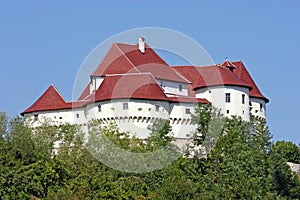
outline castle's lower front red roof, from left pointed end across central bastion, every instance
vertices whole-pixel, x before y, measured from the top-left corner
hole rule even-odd
[[[167,97],[150,73],[107,75],[98,90],[87,93],[87,88],[77,102],[66,102],[51,85],[28,109],[21,113],[81,108],[91,102],[110,99],[149,99],[169,102],[209,103],[206,99],[184,96]],[[86,96],[87,95],[87,96]]]

